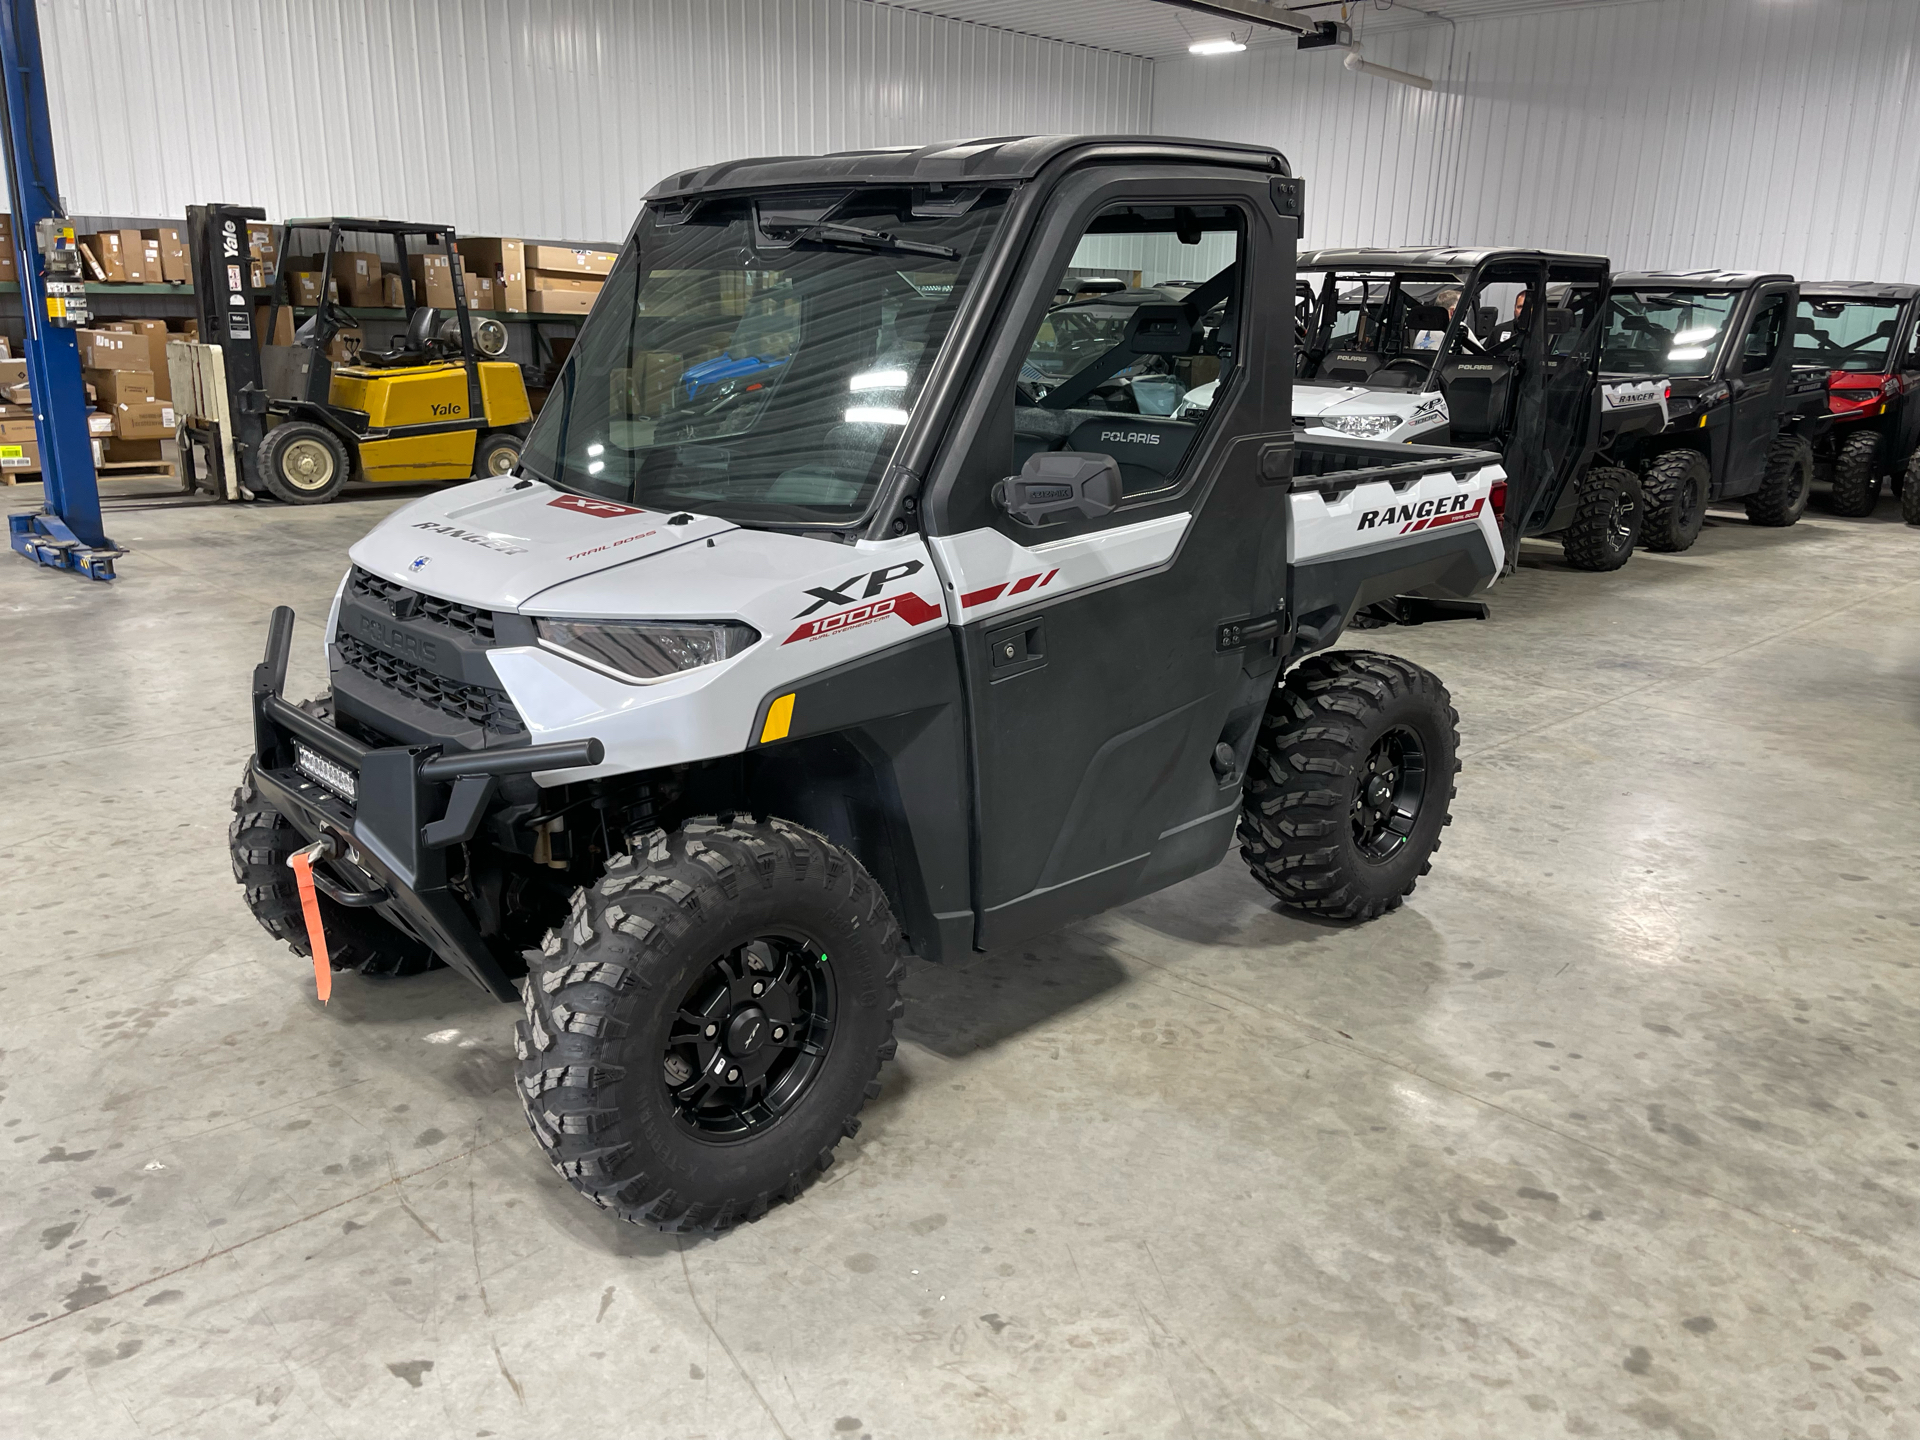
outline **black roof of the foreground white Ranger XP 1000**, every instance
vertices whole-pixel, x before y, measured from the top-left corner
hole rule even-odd
[[[1169,134],[1000,134],[943,140],[929,146],[841,150],[831,156],[760,156],[678,171],[655,184],[649,200],[695,190],[760,190],[801,184],[979,184],[1031,180],[1056,159],[1081,152],[1092,161],[1185,161],[1290,175],[1286,157],[1267,146],[1231,140],[1183,140]]]

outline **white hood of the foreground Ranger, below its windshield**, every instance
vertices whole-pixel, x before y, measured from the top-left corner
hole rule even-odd
[[[465,605],[516,609],[543,589],[735,530],[730,520],[643,511],[538,480],[442,490],[374,526],[353,549],[363,570]]]

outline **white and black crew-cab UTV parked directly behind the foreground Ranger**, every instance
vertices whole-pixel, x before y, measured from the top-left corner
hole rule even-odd
[[[1530,503],[1509,536],[1559,536],[1578,570],[1634,553],[1640,480],[1613,455],[1667,422],[1659,376],[1601,376],[1605,255],[1557,250],[1309,250],[1313,326],[1294,424],[1503,457]],[[1509,549],[1509,563],[1515,551]]]

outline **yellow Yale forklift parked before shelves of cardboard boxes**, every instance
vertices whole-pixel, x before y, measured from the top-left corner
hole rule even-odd
[[[503,359],[507,326],[468,311],[449,227],[288,221],[261,294],[246,240],[248,221],[261,219],[246,205],[188,207],[200,344],[175,342],[169,353],[188,486],[230,499],[265,493],[319,505],[348,480],[468,480],[518,465],[534,419],[526,380]],[[378,248],[355,250],[353,240]],[[445,267],[451,313],[426,303],[415,257]],[[405,328],[384,351],[361,348],[334,363],[334,340],[359,330],[353,311],[372,307],[367,301],[386,286],[386,263],[397,271]],[[311,276],[309,294],[296,294],[296,275]],[[330,296],[336,276],[361,303]],[[300,319],[290,346],[271,344],[288,328],[282,311]],[[204,449],[205,482],[190,442]]]

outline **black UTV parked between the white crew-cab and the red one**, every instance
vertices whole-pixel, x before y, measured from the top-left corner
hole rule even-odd
[[[1743,499],[1753,524],[1807,513],[1812,440],[1826,430],[1826,371],[1795,365],[1791,275],[1647,271],[1613,276],[1601,367],[1665,374],[1667,428],[1619,457],[1640,470],[1640,543],[1684,551],[1707,507]]]

